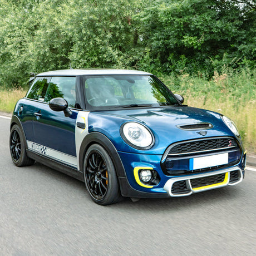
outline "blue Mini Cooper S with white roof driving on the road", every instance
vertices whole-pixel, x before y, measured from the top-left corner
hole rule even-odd
[[[240,183],[246,152],[233,121],[183,101],[141,71],[40,73],[13,112],[12,161],[84,181],[101,205]]]

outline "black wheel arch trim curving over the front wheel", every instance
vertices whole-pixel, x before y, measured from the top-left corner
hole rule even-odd
[[[91,132],[85,137],[85,139],[83,139],[80,147],[80,151],[79,151],[80,170],[83,171],[83,159],[85,157],[88,147],[90,147],[92,144],[95,144],[95,143],[103,146],[104,149],[109,153],[114,163],[117,176],[126,178],[124,165],[122,165],[122,161],[120,159],[120,156],[115,146],[112,144],[112,142],[109,140],[108,137],[101,134],[100,132]]]

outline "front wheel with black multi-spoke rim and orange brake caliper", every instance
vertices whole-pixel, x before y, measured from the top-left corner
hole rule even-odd
[[[121,199],[115,166],[99,144],[88,148],[83,160],[83,176],[86,189],[95,203],[109,205]]]

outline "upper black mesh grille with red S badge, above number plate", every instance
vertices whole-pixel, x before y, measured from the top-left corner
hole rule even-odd
[[[234,139],[227,137],[220,139],[196,140],[173,146],[169,151],[169,155],[179,155],[197,151],[210,151],[231,146],[238,147],[237,142]]]

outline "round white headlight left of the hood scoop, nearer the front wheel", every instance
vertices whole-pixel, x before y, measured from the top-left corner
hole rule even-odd
[[[137,122],[126,122],[121,126],[122,139],[135,149],[150,149],[154,145],[154,136],[144,125]]]

